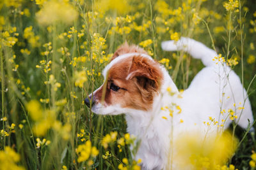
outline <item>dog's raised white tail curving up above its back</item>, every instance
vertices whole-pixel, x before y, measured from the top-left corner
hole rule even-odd
[[[179,41],[163,41],[161,46],[165,51],[183,50],[188,52],[193,58],[201,59],[205,66],[215,64],[212,59],[217,57],[217,53],[214,50],[191,38],[182,37]]]

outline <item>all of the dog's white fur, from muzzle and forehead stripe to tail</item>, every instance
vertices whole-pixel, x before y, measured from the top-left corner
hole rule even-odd
[[[232,109],[236,111],[238,117],[242,114],[237,123],[243,128],[248,126],[248,120],[250,123],[253,122],[250,101],[239,77],[225,63],[216,64],[216,61],[212,60],[217,56],[214,50],[189,38],[181,38],[177,42],[165,41],[162,43],[162,48],[166,51],[183,50],[195,59],[201,59],[205,65],[204,69],[196,74],[189,88],[184,90],[182,98],[177,97],[179,90],[162,66],[161,71],[164,78],[161,92],[154,97],[151,111],[127,109],[118,105],[104,106],[100,103],[92,108],[95,113],[104,115],[125,113],[127,131],[140,141],[135,158],[143,161],[143,169],[166,169],[171,138],[176,138],[175,136],[193,131],[193,129],[206,132],[207,126],[203,122],[209,121],[209,117],[215,118],[219,122],[227,117],[227,113],[225,113],[226,115],[220,114],[221,110]],[[140,54],[127,53],[112,60],[103,71],[105,78],[108,69],[113,64],[134,55]],[[143,57],[152,59],[145,54]],[[166,92],[168,87],[171,87],[173,96]],[[161,110],[162,107],[170,106],[172,103],[179,105],[182,113],[179,114],[178,110],[174,110],[173,117],[170,117],[168,111]],[[236,107],[234,103],[236,103]],[[241,104],[239,105],[239,103]],[[238,106],[244,107],[244,110],[237,110]],[[167,120],[163,117],[166,117]],[[181,119],[184,121],[183,123],[180,123]],[[223,128],[227,129],[230,122],[232,121],[228,119]],[[211,131],[218,131],[217,125],[214,127]],[[172,136],[171,132],[173,132]],[[175,162],[173,164],[175,165]]]

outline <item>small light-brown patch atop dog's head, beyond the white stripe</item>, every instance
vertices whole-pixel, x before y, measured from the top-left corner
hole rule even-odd
[[[121,45],[116,52],[113,54],[113,57],[111,60],[115,59],[119,55],[125,54],[125,53],[145,53],[148,54],[143,48],[140,48],[137,45],[129,45],[127,41],[123,45]]]

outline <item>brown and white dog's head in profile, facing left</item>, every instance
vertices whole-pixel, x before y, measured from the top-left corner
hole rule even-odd
[[[151,110],[163,80],[159,63],[142,48],[127,43],[116,50],[103,75],[102,86],[85,99],[93,112],[102,115]]]

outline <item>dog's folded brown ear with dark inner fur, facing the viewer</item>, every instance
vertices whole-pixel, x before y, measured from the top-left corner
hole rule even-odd
[[[154,94],[159,92],[162,74],[158,62],[146,57],[134,56],[126,79],[134,79],[143,99],[152,101]]]

